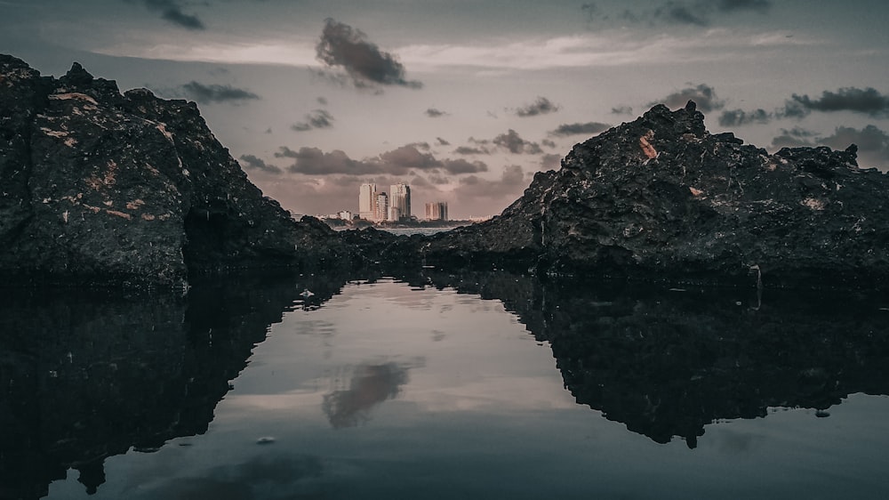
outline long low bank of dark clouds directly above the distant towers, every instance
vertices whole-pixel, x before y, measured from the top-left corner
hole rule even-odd
[[[420,143],[422,145],[424,143]],[[463,159],[440,160],[431,153],[421,152],[416,145],[408,144],[381,153],[377,157],[356,160],[339,150],[325,153],[317,148],[300,148],[294,151],[282,146],[275,157],[292,158],[288,172],[306,175],[407,175],[414,171],[445,171],[454,175],[461,173],[486,172],[488,166],[480,161],[469,162]]]

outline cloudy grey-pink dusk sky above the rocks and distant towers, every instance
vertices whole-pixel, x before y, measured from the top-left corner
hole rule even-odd
[[[295,214],[405,182],[499,214],[574,144],[689,99],[773,152],[889,170],[885,0],[0,0],[0,52],[196,101]]]

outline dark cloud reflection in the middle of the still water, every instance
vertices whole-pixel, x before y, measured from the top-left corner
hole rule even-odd
[[[355,367],[348,389],[324,395],[324,415],[335,429],[355,427],[370,419],[372,407],[393,399],[408,382],[408,367],[396,363]]]

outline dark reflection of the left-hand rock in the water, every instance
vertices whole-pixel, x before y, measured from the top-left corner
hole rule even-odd
[[[229,382],[285,310],[316,307],[345,278],[207,280],[187,297],[0,290],[0,497],[37,498],[104,461],[204,433]]]

